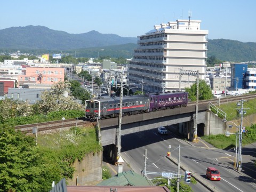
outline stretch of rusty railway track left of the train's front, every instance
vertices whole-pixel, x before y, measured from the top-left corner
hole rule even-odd
[[[15,131],[21,131],[23,133],[32,133],[33,127],[37,127],[37,132],[49,131],[49,130],[58,130],[66,129],[74,126],[89,126],[95,125],[95,122],[85,121],[84,118],[80,119],[65,119],[61,121],[52,121],[44,123],[35,123],[27,125],[18,125],[15,126]]]

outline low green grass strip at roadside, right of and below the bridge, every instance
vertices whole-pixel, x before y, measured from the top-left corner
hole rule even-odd
[[[229,137],[226,137],[226,135],[224,134],[218,134],[203,136],[201,138],[218,149],[231,149],[236,147],[236,135],[233,134],[230,135]],[[253,143],[255,141],[256,140],[249,139],[246,136],[245,139],[242,140],[243,146]]]

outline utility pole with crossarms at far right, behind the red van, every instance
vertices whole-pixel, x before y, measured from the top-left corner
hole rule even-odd
[[[238,145],[238,165],[237,165],[237,171],[242,171],[242,139],[243,139],[243,115],[246,114],[245,108],[244,108],[244,99],[241,100],[242,107],[238,108],[239,115],[241,115],[241,124],[239,127],[239,145]],[[237,106],[241,106],[241,103],[237,103]],[[246,108],[249,109],[249,108]]]

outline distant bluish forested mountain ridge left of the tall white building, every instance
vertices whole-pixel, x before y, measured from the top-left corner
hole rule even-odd
[[[0,30],[0,49],[63,51],[136,42],[136,37],[101,34],[95,30],[83,34],[69,34],[43,26],[11,27]]]

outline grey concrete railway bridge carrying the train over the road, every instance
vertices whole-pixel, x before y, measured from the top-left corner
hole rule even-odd
[[[155,129],[159,126],[170,126],[172,131],[179,132],[185,138],[193,139],[193,128],[196,106],[155,111],[122,117],[121,135]],[[222,119],[209,110],[209,103],[198,105],[197,135],[225,133]],[[99,120],[102,146],[116,144],[118,135],[118,118]],[[223,129],[224,128],[224,129]]]

